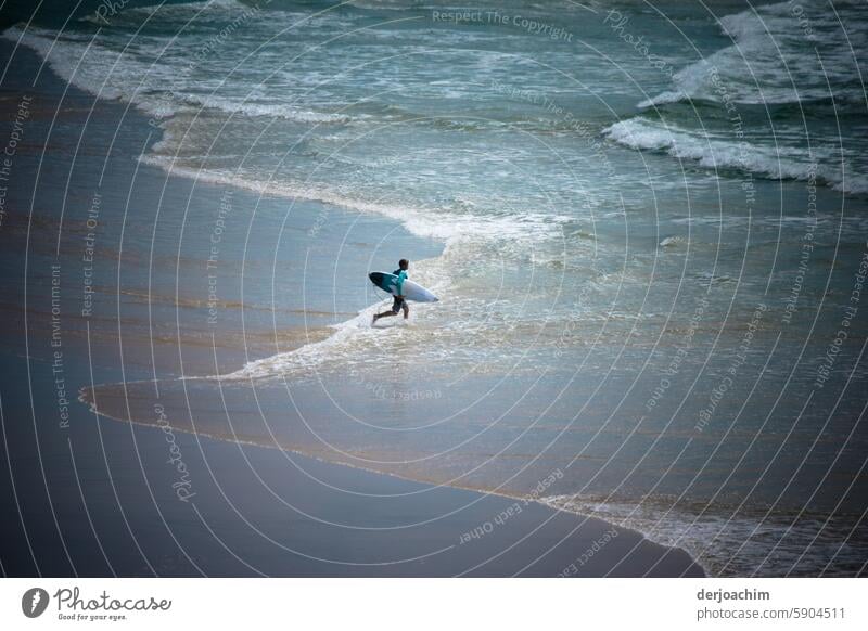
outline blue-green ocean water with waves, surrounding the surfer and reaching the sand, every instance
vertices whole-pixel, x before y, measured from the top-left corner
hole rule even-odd
[[[197,375],[266,392],[245,441],[534,494],[712,574],[865,571],[864,2],[130,3],[3,37],[149,117],[142,164],[439,245],[322,232],[441,302],[371,327],[366,286]],[[334,436],[276,437],[295,397]]]

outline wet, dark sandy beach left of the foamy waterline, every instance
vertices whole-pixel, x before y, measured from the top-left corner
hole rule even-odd
[[[10,53],[10,42],[0,46]],[[4,116],[17,106],[18,90],[33,105],[0,230],[11,266],[2,372],[21,379],[13,386],[7,378],[2,400],[4,460],[15,472],[2,492],[17,508],[3,515],[7,576],[702,575],[682,551],[533,499],[425,485],[197,433],[191,418],[221,414],[219,390],[207,384],[212,397],[202,396],[202,382],[189,382],[200,394],[183,415],[175,407],[184,383],[177,376],[238,370],[276,345],[285,351],[322,339],[366,296],[347,291],[350,300],[329,304],[317,293],[312,305],[291,296],[272,311],[266,289],[257,294],[261,304],[245,294],[244,308],[233,307],[241,280],[259,270],[255,260],[243,273],[226,262],[241,247],[227,239],[219,318],[209,325],[207,249],[195,235],[210,234],[228,198],[227,223],[248,221],[265,235],[273,226],[256,227],[251,208],[286,201],[199,183],[191,194],[191,180],[137,162],[158,138],[140,114],[67,88],[44,69],[31,88],[38,59],[18,49],[15,60],[29,74],[4,83]],[[116,138],[102,133],[115,129]],[[64,197],[69,172],[75,194]],[[397,224],[301,206],[286,215],[284,239],[303,240],[316,221],[339,234],[349,222],[374,222],[418,257],[437,252]],[[173,215],[179,209],[183,219]],[[226,233],[237,234],[233,228]],[[326,247],[319,254],[293,245],[285,252],[304,258],[282,265],[303,269],[307,260],[327,283],[340,279]],[[346,253],[340,262],[367,265]],[[298,291],[286,281],[281,292]],[[154,391],[153,376],[173,385]],[[116,405],[129,403],[150,421],[133,420],[150,426],[99,416],[78,400],[93,384],[122,379],[151,386],[131,384]]]

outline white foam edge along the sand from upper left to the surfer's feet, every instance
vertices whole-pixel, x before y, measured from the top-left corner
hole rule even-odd
[[[263,195],[321,202],[365,214],[387,217],[399,221],[416,235],[443,241],[447,257],[450,256],[450,253],[456,255],[457,252],[460,252],[463,258],[455,263],[459,266],[469,260],[478,261],[480,257],[484,256],[481,253],[488,252],[485,244],[502,243],[508,244],[511,250],[521,248],[526,250],[531,244],[558,237],[560,227],[570,219],[556,216],[550,211],[516,213],[510,209],[509,211],[493,213],[490,208],[477,208],[474,204],[467,203],[465,199],[463,202],[459,199],[454,208],[444,206],[431,208],[403,201],[384,202],[384,198],[387,197],[374,194],[366,195],[365,191],[354,185],[353,182],[342,182],[341,179],[335,178],[327,184],[323,182],[297,182],[288,180],[285,177],[283,179],[265,179],[261,177],[261,172],[257,172],[255,169],[247,171],[220,170],[214,167],[200,169],[193,166],[192,163],[195,160],[184,162],[182,157],[175,156],[179,154],[181,143],[186,143],[183,149],[188,150],[187,153],[190,153],[191,149],[194,153],[207,150],[207,144],[199,146],[195,139],[190,139],[191,129],[193,131],[196,129],[190,127],[189,118],[191,115],[199,114],[201,107],[239,113],[239,118],[282,117],[307,125],[341,124],[346,123],[348,118],[343,115],[303,108],[292,103],[286,104],[285,100],[268,102],[258,98],[244,99],[233,95],[233,92],[243,94],[243,86],[228,86],[228,89],[222,89],[219,93],[207,93],[208,87],[216,86],[217,79],[220,78],[219,73],[217,73],[217,79],[210,77],[205,83],[200,85],[192,81],[193,77],[183,74],[188,68],[186,56],[178,50],[167,48],[166,40],[158,37],[150,39],[139,37],[135,42],[130,42],[128,48],[125,48],[127,40],[123,33],[117,36],[104,35],[93,41],[91,41],[93,37],[91,35],[71,33],[59,36],[38,29],[28,29],[25,34],[13,28],[4,36],[9,39],[23,37],[24,43],[46,59],[58,75],[79,89],[103,98],[131,102],[158,119],[164,134],[151,147],[151,152],[141,159],[176,176],[238,186]],[[179,78],[183,80],[179,80]],[[167,90],[170,90],[168,98]],[[216,130],[216,127],[208,126],[207,120],[201,115],[197,119],[204,120],[203,125],[205,125],[207,133]],[[173,120],[177,120],[178,124],[174,125]],[[219,118],[217,123],[221,124]],[[322,134],[319,134],[318,138],[320,141],[323,140]],[[337,141],[340,142],[341,139]],[[199,155],[196,159],[207,157]],[[219,162],[221,156],[215,157],[217,158],[215,162]],[[373,164],[376,166],[379,163],[374,162]],[[478,244],[478,247],[474,245],[458,247],[459,244]],[[436,263],[427,265],[436,266]],[[433,286],[432,288],[445,289],[449,282],[448,271],[439,269],[441,266],[436,267],[437,272],[432,278],[439,279],[443,286],[439,288]],[[414,267],[414,272],[420,274],[418,278],[422,282],[425,282],[424,266]],[[365,358],[371,355],[370,345],[376,344],[378,338],[384,337],[370,330],[369,311],[370,309],[339,325],[334,334],[321,343],[248,363],[240,371],[224,378],[298,376],[316,374],[317,370],[329,370],[333,363],[334,365],[345,365],[350,360],[363,362]],[[388,337],[393,338],[399,335],[400,331],[397,331],[395,336]],[[420,352],[424,352],[424,350],[420,350]]]

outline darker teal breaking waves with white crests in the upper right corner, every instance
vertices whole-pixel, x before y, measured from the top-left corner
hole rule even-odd
[[[681,68],[671,89],[638,104],[661,107],[662,120],[639,116],[605,134],[712,169],[796,180],[813,172],[835,190],[868,193],[861,145],[837,138],[825,124],[865,111],[859,56],[868,48],[866,5],[843,2],[837,11],[780,2],[722,17],[732,44]],[[665,107],[687,101],[711,104],[717,113]],[[704,129],[698,128],[698,116]],[[861,124],[847,125],[864,132]]]

